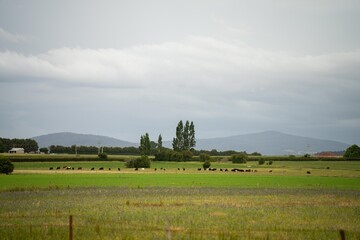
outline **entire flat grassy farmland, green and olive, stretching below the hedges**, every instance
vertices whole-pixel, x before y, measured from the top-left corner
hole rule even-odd
[[[70,225],[73,239],[360,239],[360,162],[14,165],[0,175],[1,239],[68,239]],[[220,171],[234,167],[250,172]]]

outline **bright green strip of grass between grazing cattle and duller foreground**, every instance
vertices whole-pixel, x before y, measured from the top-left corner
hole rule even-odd
[[[239,187],[360,189],[360,178],[211,173],[83,173],[0,175],[1,191],[81,187]]]

